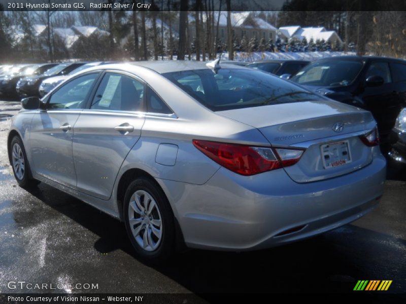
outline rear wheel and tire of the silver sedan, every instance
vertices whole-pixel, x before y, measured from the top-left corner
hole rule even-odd
[[[174,215],[156,181],[149,177],[132,181],[123,205],[125,228],[137,255],[153,263],[170,258],[175,248]]]

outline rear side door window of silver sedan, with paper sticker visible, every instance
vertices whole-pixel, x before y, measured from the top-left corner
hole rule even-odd
[[[92,100],[91,109],[140,111],[144,85],[128,76],[106,73]]]

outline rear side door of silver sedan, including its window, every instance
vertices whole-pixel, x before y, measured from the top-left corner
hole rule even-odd
[[[140,138],[145,84],[107,71],[74,126],[73,158],[79,191],[108,200],[118,171]]]

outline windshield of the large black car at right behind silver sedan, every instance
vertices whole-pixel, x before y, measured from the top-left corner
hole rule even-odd
[[[362,61],[355,60],[323,60],[304,67],[290,80],[301,85],[347,86],[357,77],[362,65]]]

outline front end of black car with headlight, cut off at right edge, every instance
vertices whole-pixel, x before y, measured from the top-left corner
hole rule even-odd
[[[389,156],[392,160],[406,164],[406,108],[403,108],[396,119],[390,135],[392,145]]]

